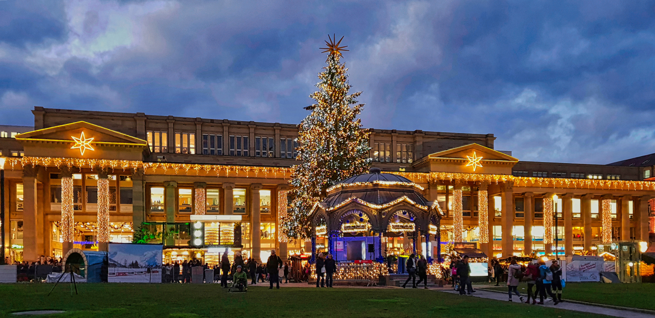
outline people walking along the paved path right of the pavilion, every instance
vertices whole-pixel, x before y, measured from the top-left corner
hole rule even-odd
[[[469,277],[471,268],[468,259],[469,257],[466,255],[462,258],[453,258],[450,264],[451,272],[449,276],[452,279],[453,287],[459,291],[459,294],[471,296],[476,291],[471,285]],[[539,260],[536,264],[529,262],[527,266],[519,264],[516,260],[511,260],[508,266],[502,266],[498,260],[492,260],[489,264],[489,282],[495,282],[496,286],[499,286],[504,279],[504,275],[506,275],[510,302],[512,302],[513,294],[523,302],[523,296],[517,290],[521,282],[527,283],[526,304],[530,304],[532,298],[533,305],[543,305],[544,300],[548,301],[548,296],[555,305],[562,302],[562,268],[557,260],[553,260],[550,266],[546,266],[544,260]],[[538,302],[536,300],[537,296],[539,297]]]

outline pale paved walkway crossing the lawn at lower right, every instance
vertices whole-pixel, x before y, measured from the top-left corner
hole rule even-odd
[[[501,294],[500,292],[490,292],[490,291],[480,291],[477,289],[478,287],[485,288],[487,286],[475,286],[476,287],[476,293],[473,295],[475,297],[479,298],[488,298],[488,299],[495,299],[495,300],[500,300],[503,302],[507,302],[508,300],[508,294]],[[491,287],[491,286],[489,286]],[[443,289],[438,289],[438,291],[441,292],[449,292],[451,294],[458,294],[457,291],[453,291],[452,287],[449,288],[443,288]],[[462,296],[462,297],[467,297],[467,296]],[[519,303],[519,299],[516,295],[512,297],[514,302]],[[584,311],[587,313],[597,313],[599,315],[608,315],[608,316],[614,316],[614,317],[625,317],[625,318],[655,318],[655,315],[651,315],[649,313],[639,313],[637,311],[629,311],[629,310],[620,310],[620,309],[612,309],[612,308],[605,308],[605,307],[600,307],[600,306],[591,306],[591,305],[584,305],[584,304],[574,304],[572,302],[563,302],[560,304],[557,304],[555,306],[553,302],[544,302],[544,305],[529,305],[529,304],[521,304],[523,306],[547,306],[551,308],[557,308],[557,309],[567,309],[567,310],[574,310],[574,311]]]

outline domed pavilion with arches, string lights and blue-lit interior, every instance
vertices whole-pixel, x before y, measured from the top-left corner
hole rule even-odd
[[[430,224],[438,227],[441,215],[422,190],[379,168],[327,188],[327,198],[310,213],[312,251],[324,242],[339,268],[335,281],[375,280],[389,272],[385,257],[390,242],[404,242],[417,254],[421,241],[430,241]]]

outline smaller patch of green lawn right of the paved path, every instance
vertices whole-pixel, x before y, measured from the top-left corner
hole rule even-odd
[[[521,283],[519,292],[527,293],[526,287]],[[507,291],[506,286],[494,289]],[[567,283],[562,299],[655,310],[655,284]]]

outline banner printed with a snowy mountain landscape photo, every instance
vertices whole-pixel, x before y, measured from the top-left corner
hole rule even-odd
[[[109,283],[161,283],[160,244],[109,243]]]

